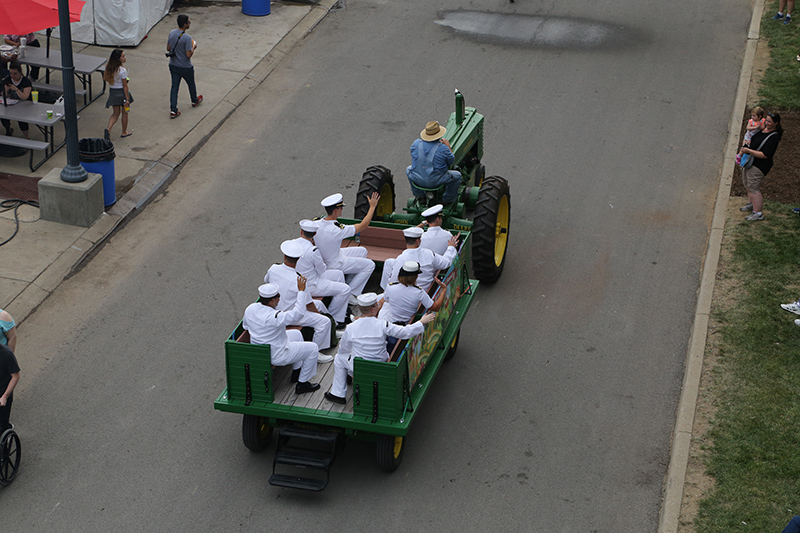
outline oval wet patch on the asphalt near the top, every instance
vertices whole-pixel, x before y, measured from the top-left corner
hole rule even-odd
[[[480,41],[540,48],[605,48],[634,37],[631,30],[607,22],[482,11],[443,11],[436,24]]]

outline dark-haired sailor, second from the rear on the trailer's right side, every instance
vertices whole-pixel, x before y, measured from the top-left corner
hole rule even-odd
[[[441,290],[436,295],[436,301],[432,300],[428,293],[417,287],[417,276],[419,275],[419,263],[407,261],[397,281],[390,283],[383,293],[383,305],[381,306],[378,318],[383,318],[394,324],[407,324],[414,318],[414,315],[421,305],[429,311],[438,311],[442,306],[447,287],[444,283],[434,278]],[[380,302],[378,302],[380,304]]]

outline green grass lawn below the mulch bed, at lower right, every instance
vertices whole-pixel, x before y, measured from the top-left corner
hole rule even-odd
[[[800,514],[800,217],[771,202],[765,222],[734,223],[718,274],[726,297],[712,370],[716,412],[698,532],[780,532]],[[730,248],[728,248],[730,247]]]

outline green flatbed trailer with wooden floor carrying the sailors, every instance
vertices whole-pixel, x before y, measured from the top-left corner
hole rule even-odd
[[[360,234],[359,242],[346,244],[365,246],[368,257],[383,261],[405,248],[404,227],[377,222]],[[460,233],[456,259],[439,273],[445,287],[434,284],[437,291],[447,291],[435,320],[422,335],[400,341],[387,362],[356,358],[345,405],[323,396],[333,382],[332,363],[319,366],[314,379],[321,384],[318,391],[297,395],[289,382],[291,368],[273,368],[269,346],[250,344],[241,322],[226,339],[227,387],[214,408],[243,415],[242,439],[253,452],[265,450],[278,430],[271,484],[324,489],[334,458],[350,438],[375,442],[378,465],[388,472],[397,469],[409,427],[442,363],[455,354],[461,324],[478,289],[479,282],[468,275],[471,236]]]

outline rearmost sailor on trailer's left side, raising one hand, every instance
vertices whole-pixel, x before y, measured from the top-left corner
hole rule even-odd
[[[296,284],[297,293],[305,294],[305,278],[298,277]],[[292,382],[297,383],[294,387],[297,394],[314,392],[319,389],[319,383],[311,383],[311,378],[317,375],[319,349],[313,342],[304,342],[299,330],[286,329],[303,313],[302,299],[298,299],[293,309],[278,311],[276,307],[281,298],[278,292],[279,287],[273,283],[261,285],[258,301],[244,311],[242,325],[250,332],[250,344],[269,344],[273,365],[292,365]]]

